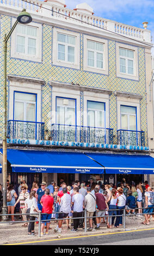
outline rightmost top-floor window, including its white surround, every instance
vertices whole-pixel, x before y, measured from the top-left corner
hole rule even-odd
[[[116,42],[116,75],[139,80],[138,47]]]

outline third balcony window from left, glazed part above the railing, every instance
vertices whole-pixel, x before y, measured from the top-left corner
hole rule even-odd
[[[104,128],[104,103],[88,101],[88,126]]]

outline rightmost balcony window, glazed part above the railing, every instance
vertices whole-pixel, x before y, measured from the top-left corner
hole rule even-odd
[[[121,129],[136,130],[136,108],[121,106]]]

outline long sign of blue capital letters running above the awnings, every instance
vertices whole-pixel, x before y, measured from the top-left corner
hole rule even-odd
[[[7,139],[8,144],[62,146],[73,148],[100,148],[100,149],[126,149],[126,150],[149,150],[149,147],[133,145],[116,145],[101,143],[65,142],[65,141],[40,141],[35,139]]]

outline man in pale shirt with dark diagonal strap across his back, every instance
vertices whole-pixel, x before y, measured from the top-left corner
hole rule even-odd
[[[87,210],[87,219],[90,223],[90,228],[88,228],[88,231],[91,231],[93,229],[93,215],[96,209],[96,197],[95,194],[91,193],[91,188],[87,187],[87,195],[84,197],[84,208]],[[89,218],[91,217],[91,218]]]

